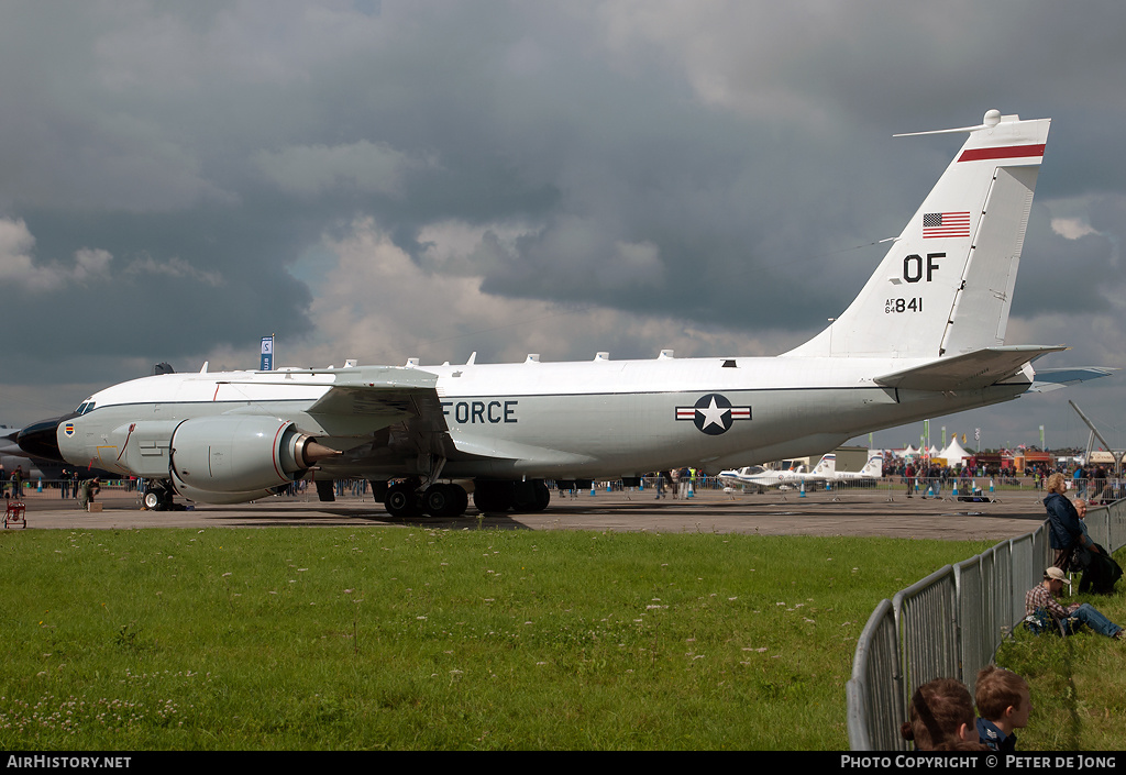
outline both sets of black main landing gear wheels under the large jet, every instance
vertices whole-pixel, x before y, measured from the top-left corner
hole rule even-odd
[[[482,480],[474,482],[473,505],[482,514],[508,511],[510,509],[529,513],[543,511],[551,501],[551,492],[543,480],[503,481]],[[465,514],[470,498],[459,484],[431,484],[425,490],[418,482],[396,482],[387,488],[383,499],[387,513],[396,518],[431,517],[453,518]]]

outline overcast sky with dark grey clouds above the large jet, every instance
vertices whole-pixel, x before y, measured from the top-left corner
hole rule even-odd
[[[1053,118],[1008,344],[1126,366],[1126,6],[0,2],[0,421],[168,362],[774,355],[985,110]],[[1126,446],[1126,373],[936,419]],[[877,434],[918,443],[921,425]],[[861,439],[861,443],[866,439]]]

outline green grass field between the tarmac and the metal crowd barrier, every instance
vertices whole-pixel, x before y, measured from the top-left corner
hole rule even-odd
[[[986,546],[6,533],[0,749],[844,749],[876,603]]]

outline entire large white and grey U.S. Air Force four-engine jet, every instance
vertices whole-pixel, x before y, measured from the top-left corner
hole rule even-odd
[[[833,449],[881,428],[1103,376],[1035,373],[1063,346],[1006,346],[1051,119],[990,110],[860,294],[776,357],[349,366],[161,374],[25,428],[20,446],[218,504],[316,469],[364,476],[395,516],[543,509],[545,479],[636,481],[686,464]],[[580,484],[586,487],[586,483]]]

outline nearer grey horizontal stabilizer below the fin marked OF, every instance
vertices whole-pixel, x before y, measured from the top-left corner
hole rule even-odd
[[[904,390],[957,391],[977,390],[1007,380],[1048,353],[1067,349],[1063,345],[1038,347],[986,347],[984,349],[940,358],[923,366],[876,377],[877,385]]]

